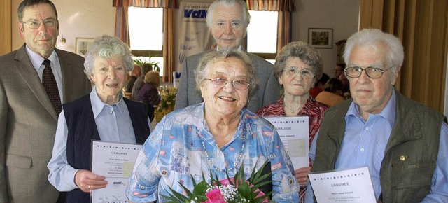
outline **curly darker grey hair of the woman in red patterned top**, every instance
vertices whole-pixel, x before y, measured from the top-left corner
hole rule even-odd
[[[323,73],[321,52],[303,41],[293,41],[281,48],[281,52],[275,57],[274,64],[274,74],[277,79],[281,76],[281,73],[283,73],[283,69],[285,68],[288,59],[293,57],[297,57],[302,60],[304,64],[311,66],[314,71],[315,81],[321,79]]]

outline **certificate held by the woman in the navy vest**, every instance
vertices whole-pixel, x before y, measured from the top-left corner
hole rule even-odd
[[[129,202],[125,195],[141,145],[92,141],[92,172],[106,176],[107,186],[92,190],[92,203]]]

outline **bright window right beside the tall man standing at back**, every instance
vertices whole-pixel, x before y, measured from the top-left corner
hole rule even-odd
[[[249,13],[251,13],[251,23],[247,27],[247,52],[267,59],[273,64],[277,49],[279,13],[255,10],[249,10]]]

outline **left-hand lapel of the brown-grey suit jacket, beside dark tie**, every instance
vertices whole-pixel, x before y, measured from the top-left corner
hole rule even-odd
[[[36,69],[34,69],[31,60],[29,59],[25,45],[23,45],[22,48],[16,52],[14,67],[28,85],[29,90],[33,92],[34,96],[36,96],[38,101],[41,102],[42,106],[48,111],[48,113],[50,113],[50,115],[57,120],[58,115],[50,102],[50,98],[48,98],[47,92],[43,89],[42,81],[39,78]]]

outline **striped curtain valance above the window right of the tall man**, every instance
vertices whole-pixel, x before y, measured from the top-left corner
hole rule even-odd
[[[249,10],[295,11],[294,0],[246,0]]]

